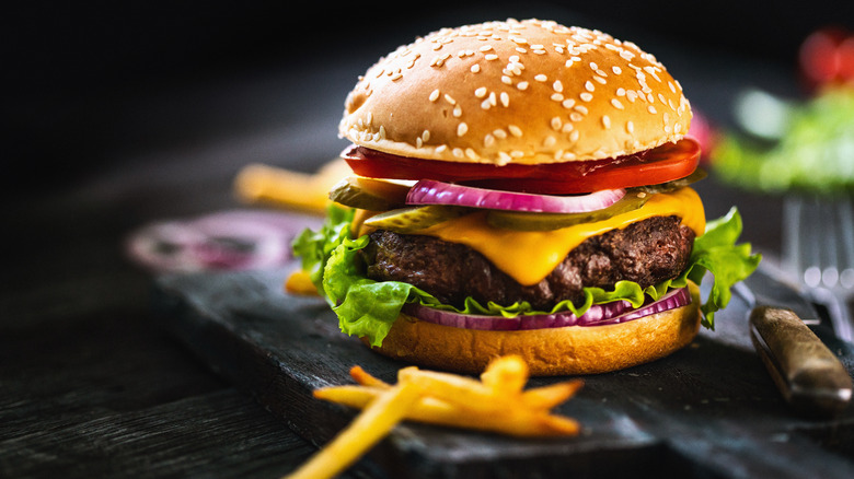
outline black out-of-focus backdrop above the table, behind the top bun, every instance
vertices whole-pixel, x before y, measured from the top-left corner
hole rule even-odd
[[[799,94],[800,42],[816,28],[851,28],[854,22],[852,2],[828,0],[130,0],[15,2],[5,9],[4,192],[45,182],[68,186],[140,152],[246,135],[298,115],[332,120],[318,140],[327,136],[334,147],[321,154],[334,154],[335,120],[356,75],[380,55],[441,26],[535,16],[605,31],[657,55],[696,107],[725,121],[715,82],[731,75]],[[703,78],[703,58],[722,56],[727,61],[709,66],[713,78]],[[727,66],[731,74],[720,70]],[[312,77],[319,67],[335,78]],[[778,75],[776,82],[768,81],[771,75]],[[292,101],[298,104],[289,108]]]

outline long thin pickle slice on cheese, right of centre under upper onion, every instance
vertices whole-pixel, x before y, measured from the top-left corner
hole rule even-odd
[[[620,201],[608,208],[584,213],[529,213],[521,211],[492,210],[486,222],[496,227],[517,231],[552,231],[580,223],[592,223],[636,210],[653,195],[645,191],[627,191]]]

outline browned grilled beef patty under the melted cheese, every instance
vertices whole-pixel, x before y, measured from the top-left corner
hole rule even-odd
[[[367,274],[377,281],[403,281],[439,301],[462,306],[466,296],[510,305],[527,301],[538,309],[584,299],[582,288],[612,288],[620,280],[646,288],[679,274],[688,265],[694,232],[677,217],[653,217],[622,230],[587,238],[542,281],[515,279],[478,252],[432,236],[374,231],[362,249]]]

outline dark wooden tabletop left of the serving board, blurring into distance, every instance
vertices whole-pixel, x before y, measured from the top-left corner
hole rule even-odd
[[[241,207],[232,180],[247,163],[311,171],[334,156],[344,96],[382,52],[146,90],[95,113],[66,104],[89,112],[71,131],[111,148],[71,182],[4,191],[0,477],[270,478],[309,457],[313,446],[166,332],[152,315],[152,273],[124,242],[154,221]],[[750,67],[692,62],[678,49],[659,58],[694,106],[722,120],[738,86],[724,71]],[[761,67],[759,84],[778,87],[772,79],[787,74]],[[780,250],[777,200],[714,178],[699,189],[709,217],[738,205],[745,237]]]

